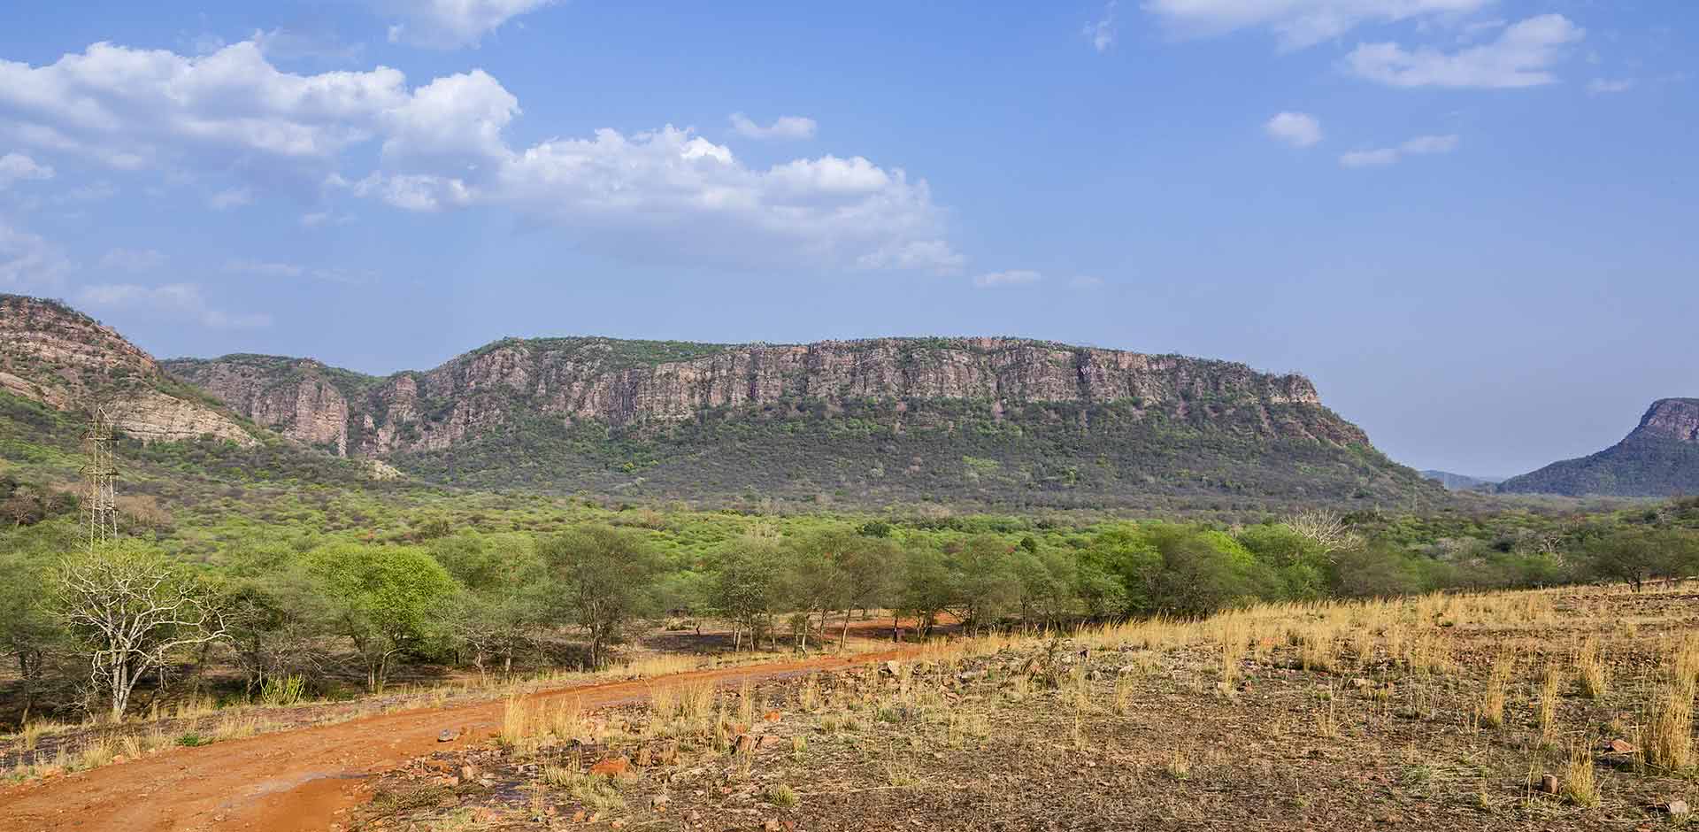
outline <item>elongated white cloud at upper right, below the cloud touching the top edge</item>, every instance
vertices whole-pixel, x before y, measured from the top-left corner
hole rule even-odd
[[[1529,17],[1492,42],[1444,53],[1432,48],[1408,51],[1393,42],[1359,44],[1346,56],[1346,68],[1388,87],[1516,88],[1556,82],[1551,66],[1565,48],[1580,42],[1587,31],[1566,17]]]

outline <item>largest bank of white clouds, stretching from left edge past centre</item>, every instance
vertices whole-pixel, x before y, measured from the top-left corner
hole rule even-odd
[[[0,61],[0,129],[129,168],[236,171],[214,207],[330,188],[406,211],[498,205],[625,260],[962,268],[945,211],[902,168],[831,155],[758,168],[673,126],[511,146],[520,114],[479,70],[411,88],[384,66],[297,75],[253,41],[206,56],[102,42],[44,66]],[[375,170],[343,175],[357,165]]]

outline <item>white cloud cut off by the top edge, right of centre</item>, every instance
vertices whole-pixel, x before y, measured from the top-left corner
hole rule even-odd
[[[1303,49],[1364,24],[1456,19],[1493,0],[1145,0],[1183,36],[1267,29],[1281,49]]]

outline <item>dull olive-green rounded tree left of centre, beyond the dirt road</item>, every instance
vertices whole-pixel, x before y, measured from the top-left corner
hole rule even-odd
[[[661,559],[635,531],[605,525],[579,526],[540,547],[554,577],[557,603],[590,637],[590,666],[607,661],[607,649],[625,628],[654,610]]]

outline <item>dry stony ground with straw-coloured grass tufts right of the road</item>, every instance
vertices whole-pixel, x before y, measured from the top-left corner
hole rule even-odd
[[[1641,744],[1694,598],[1531,598],[982,642],[603,711],[516,706],[488,742],[369,781],[370,801],[343,824],[1685,825],[1692,764],[1651,764]],[[1609,681],[1597,696],[1589,640]],[[1685,732],[1691,742],[1691,722]]]

